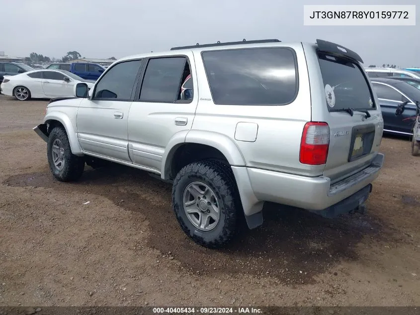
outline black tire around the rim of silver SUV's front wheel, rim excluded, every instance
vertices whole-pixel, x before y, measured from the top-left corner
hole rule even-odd
[[[64,148],[64,168],[60,171],[53,162],[52,146],[55,139],[59,139]],[[47,143],[48,164],[53,176],[61,182],[71,182],[78,180],[84,170],[84,157],[72,153],[69,138],[64,127],[54,127],[48,137]]]

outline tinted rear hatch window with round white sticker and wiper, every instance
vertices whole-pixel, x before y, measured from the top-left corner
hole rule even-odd
[[[324,92],[330,111],[343,108],[373,109],[374,98],[368,82],[356,63],[319,53]]]

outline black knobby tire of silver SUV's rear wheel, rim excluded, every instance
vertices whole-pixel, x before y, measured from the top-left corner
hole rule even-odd
[[[209,186],[218,199],[220,219],[210,231],[196,228],[183,208],[185,188],[197,181]],[[193,241],[208,248],[224,247],[238,232],[242,211],[238,188],[230,166],[219,161],[205,160],[183,167],[173,181],[172,208],[182,230]]]

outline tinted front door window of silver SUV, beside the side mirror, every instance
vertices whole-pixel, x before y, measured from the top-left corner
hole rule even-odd
[[[121,62],[109,69],[96,84],[94,98],[130,100],[141,62],[141,60]]]

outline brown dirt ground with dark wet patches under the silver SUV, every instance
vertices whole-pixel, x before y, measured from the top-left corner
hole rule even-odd
[[[385,137],[366,214],[264,207],[264,224],[206,250],[170,185],[113,165],[78,183],[33,132],[47,101],[0,96],[0,306],[419,306],[420,158]],[[88,204],[84,204],[89,202]]]

